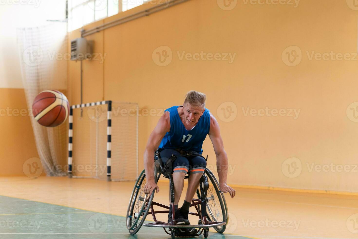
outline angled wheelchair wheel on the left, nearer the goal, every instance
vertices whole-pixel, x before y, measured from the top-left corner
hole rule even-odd
[[[157,183],[160,177],[157,161],[154,166],[154,182]],[[129,201],[126,225],[131,235],[136,234],[143,225],[153,201],[155,190],[150,195],[144,193],[143,187],[146,183],[145,170],[139,175]]]

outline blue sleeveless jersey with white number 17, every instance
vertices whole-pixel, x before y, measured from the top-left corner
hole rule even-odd
[[[161,140],[159,149],[178,148],[185,151],[203,153],[203,142],[210,130],[210,114],[205,108],[203,115],[193,129],[184,127],[178,113],[179,106],[173,106],[165,111],[170,113],[170,131]]]

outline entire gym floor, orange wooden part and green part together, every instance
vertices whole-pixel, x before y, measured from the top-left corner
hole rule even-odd
[[[0,183],[0,238],[170,238],[161,228],[142,227],[135,236],[126,230],[134,182],[1,177]],[[158,185],[154,201],[167,205],[168,182]],[[357,196],[235,190],[234,199],[225,194],[226,232],[210,230],[209,238],[358,238]]]

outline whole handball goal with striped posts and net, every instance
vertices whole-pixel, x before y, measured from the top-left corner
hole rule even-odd
[[[73,105],[70,111],[69,177],[136,180],[138,105],[98,101]]]

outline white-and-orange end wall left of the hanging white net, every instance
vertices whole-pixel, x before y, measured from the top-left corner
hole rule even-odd
[[[23,110],[23,113],[24,110],[27,112],[28,105],[25,100],[20,66],[23,52],[19,53],[16,29],[48,24],[48,19],[63,19],[65,11],[61,9],[64,9],[65,6],[65,0],[55,2],[42,0],[30,4],[12,1],[1,3],[0,129],[2,137],[0,139],[0,176],[25,176],[24,162],[27,159],[39,157],[30,122],[32,116],[18,115],[20,110]],[[62,67],[58,67],[56,70],[52,75],[61,77],[59,72],[63,70]],[[64,77],[66,77],[66,72]],[[14,114],[18,116],[14,116]]]

